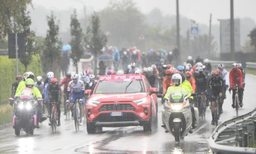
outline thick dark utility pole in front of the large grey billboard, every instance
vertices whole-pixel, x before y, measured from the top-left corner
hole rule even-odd
[[[232,60],[235,60],[235,38],[234,38],[234,3],[230,0],[230,52]]]

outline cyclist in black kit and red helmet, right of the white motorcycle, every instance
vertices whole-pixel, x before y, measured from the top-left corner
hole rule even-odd
[[[219,113],[222,113],[222,93],[223,93],[223,80],[221,77],[219,77],[219,72],[217,70],[212,71],[211,78],[208,82],[208,86],[210,87],[209,91],[209,98],[211,101],[211,112],[212,112],[212,125],[215,125],[215,117],[214,117],[214,111],[215,111],[215,103],[217,98],[220,98],[219,102]]]

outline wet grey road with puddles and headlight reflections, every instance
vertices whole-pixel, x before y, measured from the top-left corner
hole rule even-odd
[[[246,75],[244,91],[244,106],[239,109],[239,115],[251,111],[255,106],[256,77]],[[224,113],[219,123],[236,116],[235,109],[231,107],[231,94],[227,91],[224,102]],[[174,137],[165,133],[160,127],[162,106],[159,103],[159,127],[151,133],[143,132],[142,126],[103,128],[102,132],[87,134],[86,125],[75,131],[73,120],[65,120],[61,115],[61,126],[52,132],[48,120],[40,129],[35,129],[34,135],[22,132],[15,136],[14,129],[0,130],[0,153],[205,153],[209,150],[206,139],[214,129],[211,125],[210,109],[206,110],[206,119],[199,121],[193,134],[188,134],[179,144]],[[85,121],[83,121],[85,124]]]

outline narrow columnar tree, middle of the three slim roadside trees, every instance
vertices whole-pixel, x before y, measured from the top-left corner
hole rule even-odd
[[[73,59],[73,65],[76,67],[76,73],[78,73],[77,64],[80,61],[80,58],[83,56],[84,52],[82,47],[83,32],[82,32],[80,23],[77,20],[76,10],[74,10],[74,14],[71,15],[70,30],[71,30],[70,45],[72,47],[70,58]]]

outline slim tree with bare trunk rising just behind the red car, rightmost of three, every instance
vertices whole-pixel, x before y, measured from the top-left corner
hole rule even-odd
[[[94,12],[90,19],[90,24],[87,27],[86,36],[84,38],[86,44],[89,46],[89,51],[95,57],[94,74],[97,74],[97,55],[102,53],[102,48],[108,42],[107,36],[100,31],[100,20],[98,13]]]

